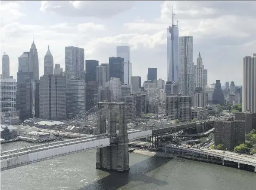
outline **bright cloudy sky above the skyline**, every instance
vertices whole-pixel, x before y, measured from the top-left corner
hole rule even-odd
[[[132,75],[147,78],[157,67],[166,80],[166,28],[169,7],[179,20],[180,36],[193,36],[208,69],[208,84],[220,79],[242,84],[242,60],[256,53],[256,3],[242,1],[1,1],[1,57],[10,57],[16,78],[18,59],[33,41],[43,75],[47,46],[65,69],[65,46],[84,48],[85,59],[108,63],[116,45],[131,46]]]

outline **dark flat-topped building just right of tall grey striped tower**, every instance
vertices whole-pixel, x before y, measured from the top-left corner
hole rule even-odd
[[[97,81],[97,66],[99,66],[98,60],[85,60],[85,82]]]

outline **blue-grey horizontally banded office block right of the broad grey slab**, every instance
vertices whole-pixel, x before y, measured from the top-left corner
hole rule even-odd
[[[84,118],[85,109],[85,90],[84,81],[79,78],[72,77],[66,81],[66,115],[68,119]]]

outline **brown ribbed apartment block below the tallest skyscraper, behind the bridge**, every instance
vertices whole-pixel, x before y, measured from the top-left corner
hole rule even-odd
[[[181,96],[166,96],[165,113],[168,118],[180,121],[191,121],[191,97]]]

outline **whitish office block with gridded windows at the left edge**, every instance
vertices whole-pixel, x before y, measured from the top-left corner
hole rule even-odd
[[[1,79],[1,112],[16,111],[16,79]]]

